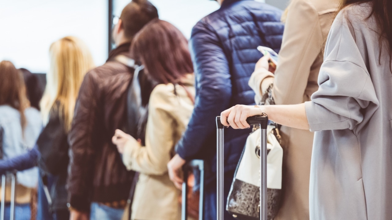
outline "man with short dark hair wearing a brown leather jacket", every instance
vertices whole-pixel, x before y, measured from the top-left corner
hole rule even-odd
[[[126,122],[127,89],[133,69],[116,61],[128,56],[133,36],[154,18],[157,9],[147,0],[132,0],[113,30],[117,46],[105,64],[89,71],[80,87],[69,133],[68,200],[71,220],[119,220],[134,172],[123,165],[111,142]]]

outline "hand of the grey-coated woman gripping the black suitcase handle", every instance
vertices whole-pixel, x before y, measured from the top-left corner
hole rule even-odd
[[[250,128],[246,119],[254,115],[261,115],[263,112],[263,106],[236,105],[221,113],[221,123],[234,129]]]

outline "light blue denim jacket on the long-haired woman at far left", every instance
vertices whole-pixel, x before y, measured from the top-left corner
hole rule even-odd
[[[0,130],[2,135],[3,159],[9,159],[30,151],[42,129],[40,113],[35,108],[27,108],[24,112],[27,124],[22,132],[20,114],[9,105],[0,106]],[[0,145],[0,146],[1,146]],[[38,168],[18,171],[18,184],[33,188],[38,182]]]

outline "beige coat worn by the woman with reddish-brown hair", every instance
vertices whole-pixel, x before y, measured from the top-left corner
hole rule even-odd
[[[192,96],[194,76],[184,81]],[[146,128],[146,146],[136,140],[127,142],[123,162],[128,170],[140,172],[136,184],[132,220],[180,220],[181,191],[175,188],[167,173],[167,163],[174,156],[174,146],[188,125],[193,110],[185,89],[176,85],[157,85],[151,92]]]

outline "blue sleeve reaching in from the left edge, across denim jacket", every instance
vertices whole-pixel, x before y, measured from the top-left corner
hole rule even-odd
[[[40,155],[36,145],[27,153],[13,157],[7,160],[0,160],[0,174],[7,171],[22,171],[37,166],[37,160]]]

